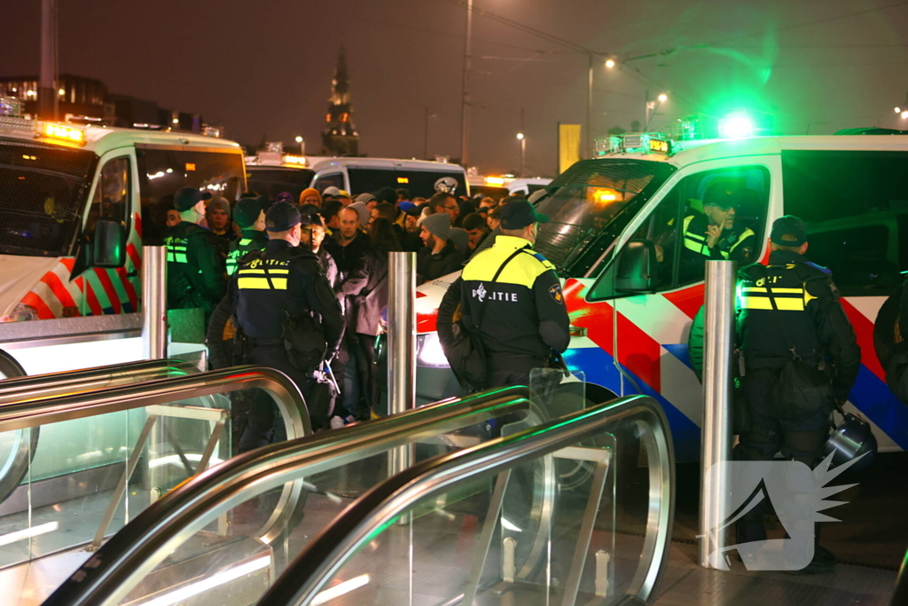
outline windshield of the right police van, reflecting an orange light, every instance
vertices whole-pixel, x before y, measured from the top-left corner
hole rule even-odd
[[[536,250],[562,277],[583,275],[674,172],[671,164],[627,158],[574,164],[537,206],[550,223],[539,225]]]

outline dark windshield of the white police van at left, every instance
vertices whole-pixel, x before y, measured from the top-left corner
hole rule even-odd
[[[0,253],[70,254],[95,162],[83,149],[0,139]]]

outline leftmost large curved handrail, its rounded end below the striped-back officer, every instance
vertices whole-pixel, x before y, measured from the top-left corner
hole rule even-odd
[[[0,406],[0,432],[255,388],[275,396],[288,438],[311,434],[309,414],[305,413],[306,404],[299,388],[286,374],[265,366],[236,366],[46,400],[9,403]]]

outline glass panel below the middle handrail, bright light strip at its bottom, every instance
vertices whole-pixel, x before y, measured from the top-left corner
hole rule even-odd
[[[519,421],[522,415],[516,414],[513,421]],[[426,430],[419,442],[410,444],[413,461],[487,441],[497,435],[496,427],[496,422],[482,422],[443,434]],[[302,470],[292,477],[295,482],[264,492],[250,490],[244,494],[245,501],[230,511],[206,513],[192,526],[194,534],[166,557],[155,556],[154,570],[142,579],[128,581],[129,593],[121,603],[141,603],[152,594],[175,598],[183,595],[180,591],[203,591],[206,603],[216,603],[226,595],[231,603],[254,602],[311,537],[327,527],[354,499],[383,482],[388,469],[389,453],[382,452],[352,461],[326,462],[320,465],[320,472],[304,479],[305,470]],[[533,473],[529,472],[527,477],[532,481]],[[293,509],[288,497],[297,491],[302,496]],[[474,502],[481,498],[459,492],[455,500],[458,503],[451,502],[451,511],[460,519],[471,515],[470,519],[475,520],[474,509],[485,507],[481,502],[479,505]],[[468,502],[462,505],[466,509],[461,511],[459,501],[463,499]],[[538,512],[542,503],[530,502],[523,509]],[[448,513],[446,509],[444,515]]]

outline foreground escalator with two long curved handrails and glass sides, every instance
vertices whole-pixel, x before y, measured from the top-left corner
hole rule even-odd
[[[646,601],[672,522],[663,412],[637,396],[549,420],[528,396],[483,392],[235,457],[150,505],[44,603]],[[632,541],[615,527],[613,434],[642,444]],[[416,464],[391,474],[400,449]],[[568,487],[560,462],[588,473]],[[292,511],[274,496],[289,485],[304,492]]]

